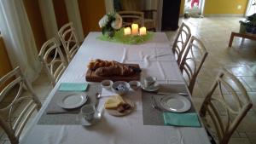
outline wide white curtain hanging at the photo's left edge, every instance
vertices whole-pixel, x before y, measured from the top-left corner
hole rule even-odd
[[[28,81],[34,81],[42,66],[21,0],[0,0],[0,30],[12,66],[20,66]]]

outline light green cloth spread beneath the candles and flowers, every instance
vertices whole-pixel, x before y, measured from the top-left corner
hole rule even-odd
[[[148,41],[153,36],[154,36],[153,32],[147,32],[147,35],[145,36],[132,36],[132,35],[125,36],[124,29],[122,28],[119,31],[115,32],[113,37],[102,35],[97,38],[101,39],[102,41],[108,41],[113,43],[140,44]]]

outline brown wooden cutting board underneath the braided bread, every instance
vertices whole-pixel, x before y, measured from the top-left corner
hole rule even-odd
[[[137,64],[124,64],[124,65],[140,68],[140,66]],[[126,77],[122,77],[122,76],[99,77],[95,74],[95,71],[91,71],[90,69],[88,69],[88,71],[86,72],[85,78],[86,78],[87,82],[102,82],[102,80],[105,80],[105,79],[110,79],[113,82],[115,82],[115,81],[130,82],[132,80],[139,81],[140,80],[140,72],[136,72],[134,75],[126,76]]]

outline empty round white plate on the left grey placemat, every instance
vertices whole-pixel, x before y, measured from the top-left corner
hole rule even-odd
[[[57,101],[57,104],[62,108],[72,109],[81,107],[87,99],[88,96],[85,94],[70,94],[61,97],[61,99]]]

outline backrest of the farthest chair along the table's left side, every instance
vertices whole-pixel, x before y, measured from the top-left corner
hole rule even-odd
[[[67,62],[69,63],[80,47],[78,36],[75,32],[75,28],[73,27],[73,23],[69,22],[62,26],[58,32],[58,35],[65,49]]]

